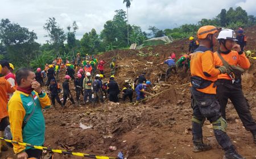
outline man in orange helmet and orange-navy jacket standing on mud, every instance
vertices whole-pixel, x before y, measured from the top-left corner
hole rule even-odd
[[[193,109],[192,134],[193,152],[210,150],[212,147],[203,143],[203,129],[207,118],[213,125],[213,132],[224,149],[224,158],[243,158],[237,153],[229,136],[226,134],[227,123],[220,113],[220,104],[216,99],[216,86],[214,82],[219,74],[226,73],[225,66],[215,68],[213,59],[213,46],[216,45],[216,36],[220,30],[214,26],[203,26],[197,31],[200,46],[191,55],[191,107]]]

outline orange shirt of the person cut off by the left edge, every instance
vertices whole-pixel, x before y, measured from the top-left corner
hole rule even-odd
[[[15,89],[5,80],[5,77],[0,77],[0,120],[8,116],[6,93],[13,93],[14,91]]]

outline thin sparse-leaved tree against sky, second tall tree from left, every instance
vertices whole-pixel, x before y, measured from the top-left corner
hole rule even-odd
[[[59,27],[54,17],[47,19],[43,28],[48,32],[47,36],[50,37],[50,43],[53,45],[57,56],[60,57],[61,49],[64,48],[64,41],[66,40],[63,28]]]

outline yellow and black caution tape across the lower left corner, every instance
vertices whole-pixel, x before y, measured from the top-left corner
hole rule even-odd
[[[7,140],[7,139],[4,139],[2,137],[0,137],[0,140],[4,140],[8,143],[19,144],[19,145],[22,145],[24,147],[31,147],[31,148],[40,149],[40,150],[48,150],[49,152],[55,152],[55,153],[60,153],[60,154],[70,154],[70,155],[73,155],[73,156],[89,157],[89,158],[97,158],[97,159],[119,159],[119,157],[97,156],[97,155],[94,155],[94,154],[70,152],[68,150],[51,149],[51,148],[47,148],[47,147],[35,146],[35,145],[27,144],[27,143],[20,143],[18,141]]]

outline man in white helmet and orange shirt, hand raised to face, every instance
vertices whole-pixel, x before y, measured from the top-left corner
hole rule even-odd
[[[243,126],[247,130],[251,131],[254,143],[256,144],[256,123],[251,116],[251,112],[247,106],[247,102],[242,91],[241,74],[243,73],[243,70],[241,70],[241,72],[239,70],[232,70],[232,68],[228,66],[232,65],[237,66],[238,69],[249,69],[250,61],[245,56],[245,52],[242,51],[240,45],[235,43],[237,40],[236,34],[233,30],[222,30],[217,39],[220,43],[220,49],[218,49],[217,52],[214,52],[215,65],[224,65],[229,70],[226,74],[219,74],[216,82],[217,99],[218,102],[220,102],[221,115],[226,119],[226,104],[228,103],[228,99],[230,99],[234,108],[236,108]],[[232,49],[234,51],[232,51]],[[225,60],[224,62],[222,62],[220,56]]]

